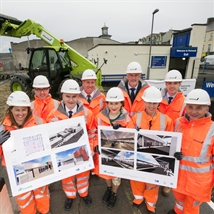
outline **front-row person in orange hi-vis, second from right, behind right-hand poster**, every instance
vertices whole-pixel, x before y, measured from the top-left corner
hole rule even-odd
[[[128,124],[127,128],[173,131],[172,119],[158,111],[158,105],[162,100],[161,92],[151,86],[144,91],[142,99],[145,102],[145,111],[135,114],[132,117],[134,125]],[[159,186],[134,180],[131,180],[130,184],[134,195],[133,209],[138,210],[139,205],[145,199],[149,212],[155,213]]]

